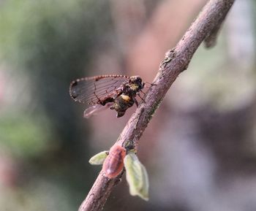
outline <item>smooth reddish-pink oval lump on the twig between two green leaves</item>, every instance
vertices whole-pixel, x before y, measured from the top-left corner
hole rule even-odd
[[[116,177],[124,169],[124,157],[127,150],[120,145],[113,145],[110,148],[108,157],[105,159],[102,170],[105,177],[109,179]]]

